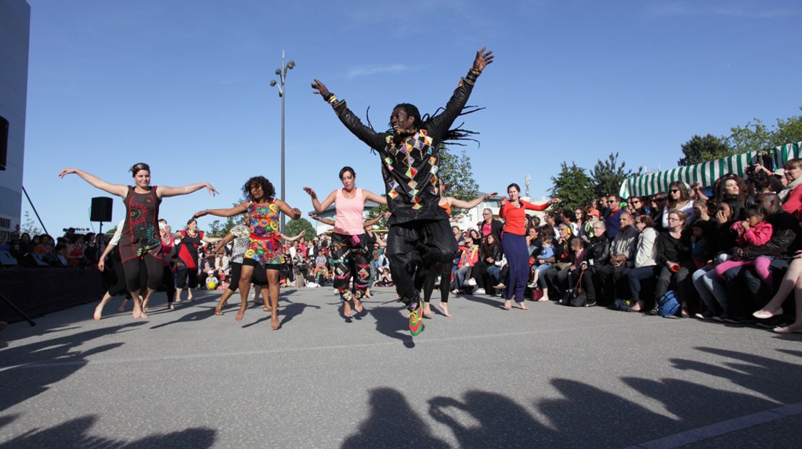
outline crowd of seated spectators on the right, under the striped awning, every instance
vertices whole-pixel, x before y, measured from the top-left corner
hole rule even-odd
[[[651,196],[610,194],[547,211],[543,223],[529,216],[528,294],[650,314],[675,298],[670,316],[800,330],[802,323],[788,327],[793,301],[780,305],[795,289],[802,297],[802,159],[775,172],[756,165],[750,175],[727,174],[709,189],[674,182]],[[501,222],[489,209],[484,217],[475,229],[454,228],[460,253],[452,293],[500,296],[504,289]],[[787,270],[794,279],[781,282]]]

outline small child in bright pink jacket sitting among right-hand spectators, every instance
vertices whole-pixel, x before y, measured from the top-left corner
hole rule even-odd
[[[765,245],[772,238],[774,227],[768,221],[764,221],[765,216],[766,211],[762,206],[750,204],[747,206],[747,219],[736,221],[732,224],[731,229],[738,233],[736,243],[741,248]],[[753,266],[760,280],[771,289],[774,287],[774,282],[772,281],[772,273],[768,270],[768,265],[772,263],[772,258],[770,256],[759,256],[740,261],[723,261],[719,265],[715,265],[715,273],[719,277],[723,277],[728,269],[738,266]]]

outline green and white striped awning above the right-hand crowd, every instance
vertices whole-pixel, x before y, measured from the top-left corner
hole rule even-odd
[[[743,176],[746,168],[757,160],[757,152],[747,152],[735,156],[723,157],[702,164],[688,165],[687,167],[672,168],[662,172],[646,173],[646,175],[633,176],[624,180],[619,190],[623,198],[630,196],[654,195],[666,192],[668,185],[674,181],[684,181],[687,184],[701,183],[703,187],[711,187],[715,180],[727,173]],[[782,167],[789,159],[802,156],[802,142],[785,144],[774,148],[769,153],[774,160],[776,168]]]

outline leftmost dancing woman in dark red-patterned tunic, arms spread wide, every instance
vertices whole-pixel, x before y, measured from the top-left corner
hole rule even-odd
[[[206,188],[210,195],[215,195],[217,190],[209,183],[189,184],[184,187],[152,186],[148,164],[136,164],[130,172],[134,178],[134,186],[111,184],[78,168],[63,169],[59,178],[75,174],[96,188],[123,199],[125,224],[119,241],[119,256],[123,261],[125,284],[134,300],[133,317],[148,318],[142,310],[143,298],[140,296],[140,261],[144,262],[148,272],[148,291],[145,297],[149,298],[159,288],[163,273],[159,236],[161,199],[166,196],[186,195],[201,188]]]

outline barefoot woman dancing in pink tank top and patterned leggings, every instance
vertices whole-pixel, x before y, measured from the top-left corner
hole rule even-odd
[[[367,261],[365,229],[363,228],[363,212],[365,201],[371,200],[379,204],[387,204],[384,196],[357,188],[354,185],[356,173],[350,167],[340,170],[342,188],[331,192],[321,203],[312,188],[305,187],[306,193],[312,197],[314,211],[322,213],[332,203],[337,211],[334,221],[334,232],[331,233],[332,261],[334,263],[334,288],[342,297],[342,314],[350,319],[350,299],[354,300],[357,313],[363,311],[362,299],[371,277],[371,268]],[[350,280],[354,279],[354,293],[351,294]]]

